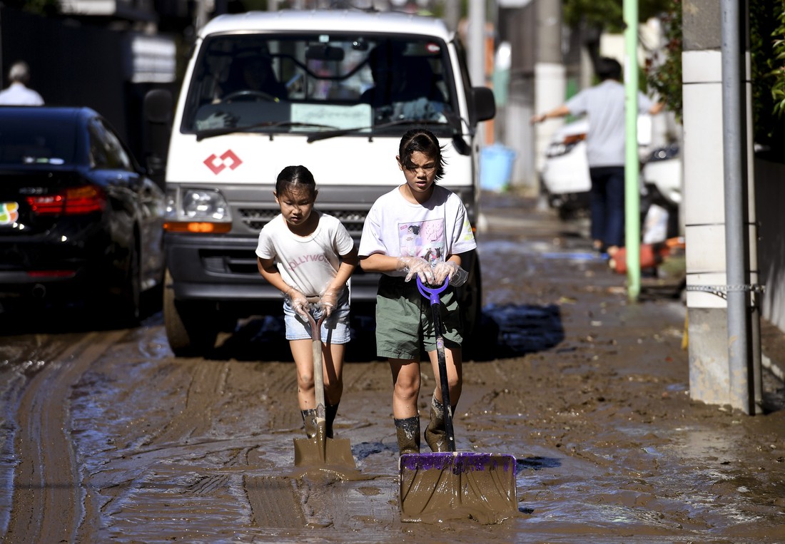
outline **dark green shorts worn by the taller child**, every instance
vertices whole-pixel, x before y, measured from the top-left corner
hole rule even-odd
[[[441,294],[444,346],[460,348],[463,321],[453,288]],[[417,281],[382,274],[376,296],[376,354],[393,359],[420,359],[422,348],[436,350],[433,310],[417,289]]]

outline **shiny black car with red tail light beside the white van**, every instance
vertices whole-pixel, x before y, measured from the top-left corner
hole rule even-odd
[[[0,305],[100,302],[137,321],[162,285],[165,196],[87,107],[0,107]]]

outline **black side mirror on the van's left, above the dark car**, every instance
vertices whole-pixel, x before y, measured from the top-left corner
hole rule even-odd
[[[166,154],[172,130],[173,100],[168,89],[153,89],[144,95],[145,122],[144,165],[149,176],[162,187],[165,184]]]

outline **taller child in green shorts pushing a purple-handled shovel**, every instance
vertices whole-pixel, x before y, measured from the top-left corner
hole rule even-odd
[[[405,183],[374,202],[360,238],[360,267],[381,272],[376,297],[376,350],[392,371],[392,415],[400,454],[420,452],[420,353],[427,352],[436,384],[440,383],[433,314],[416,281],[462,285],[466,271],[462,254],[476,248],[469,219],[458,195],[436,185],[444,176],[439,140],[425,129],[403,135],[396,161]],[[418,227],[411,254],[412,226]],[[426,255],[437,255],[433,267]],[[444,310],[444,352],[447,383],[455,412],[462,389],[462,319],[453,288],[441,296]],[[437,385],[431,398],[425,441],[433,452],[447,451],[444,404]]]

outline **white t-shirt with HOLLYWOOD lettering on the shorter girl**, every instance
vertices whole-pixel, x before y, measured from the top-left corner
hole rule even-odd
[[[298,236],[287,227],[282,215],[277,215],[261,228],[256,254],[261,259],[273,259],[283,281],[305,296],[319,296],[330,284],[341,255],[354,247],[354,241],[341,222],[324,213],[309,236]]]

